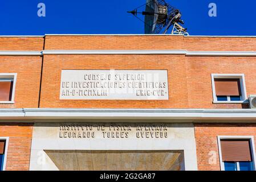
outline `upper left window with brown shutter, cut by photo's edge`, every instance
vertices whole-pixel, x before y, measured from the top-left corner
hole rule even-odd
[[[0,73],[0,104],[13,104],[16,73]]]

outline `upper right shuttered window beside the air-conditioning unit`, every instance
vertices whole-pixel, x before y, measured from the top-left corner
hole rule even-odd
[[[243,103],[247,99],[243,74],[212,74],[214,103]]]

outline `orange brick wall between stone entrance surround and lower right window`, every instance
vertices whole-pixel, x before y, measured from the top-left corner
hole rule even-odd
[[[252,135],[254,139],[256,138],[256,124],[195,123],[194,131],[198,170],[201,171],[220,171],[221,169],[217,142],[218,135]],[[216,155],[216,160],[213,158],[214,155]]]

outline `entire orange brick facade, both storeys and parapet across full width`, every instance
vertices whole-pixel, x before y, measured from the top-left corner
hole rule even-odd
[[[256,51],[256,38],[166,35],[0,38],[0,51],[164,49]],[[245,109],[246,104],[213,104],[211,74],[243,73],[248,97],[256,94],[255,67],[256,56],[0,55],[0,73],[17,73],[15,103],[0,104],[0,108]],[[169,100],[59,100],[63,69],[167,69]],[[10,137],[6,170],[29,169],[32,125],[0,123],[0,137]],[[256,137],[256,125],[246,123],[195,123],[194,131],[199,170],[220,170],[218,135]],[[209,164],[211,151],[217,154],[214,164]]]

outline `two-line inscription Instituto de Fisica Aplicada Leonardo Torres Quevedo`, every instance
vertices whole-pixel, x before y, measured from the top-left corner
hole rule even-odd
[[[168,138],[165,123],[64,123],[59,138]]]

